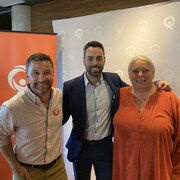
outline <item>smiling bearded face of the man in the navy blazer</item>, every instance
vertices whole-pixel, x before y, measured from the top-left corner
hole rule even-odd
[[[99,78],[105,64],[103,50],[99,47],[87,48],[83,62],[87,76]]]

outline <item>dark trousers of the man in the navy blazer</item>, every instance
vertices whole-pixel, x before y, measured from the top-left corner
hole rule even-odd
[[[94,166],[96,180],[112,180],[112,137],[99,142],[85,142],[76,161],[73,162],[76,180],[90,180]]]

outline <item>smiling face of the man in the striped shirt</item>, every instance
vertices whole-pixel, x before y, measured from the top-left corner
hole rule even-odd
[[[30,89],[37,96],[49,95],[53,84],[53,67],[49,61],[31,61],[27,71]]]

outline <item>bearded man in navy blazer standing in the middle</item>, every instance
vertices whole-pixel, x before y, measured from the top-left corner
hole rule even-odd
[[[92,165],[97,180],[111,180],[111,120],[119,106],[119,88],[127,84],[116,73],[102,72],[105,52],[97,41],[84,46],[83,63],[86,72],[63,86],[63,124],[70,116],[73,121],[67,158],[76,180],[90,180]]]

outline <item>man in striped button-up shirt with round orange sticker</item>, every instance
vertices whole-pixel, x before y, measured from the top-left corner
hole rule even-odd
[[[67,180],[61,155],[62,91],[52,87],[51,58],[43,53],[31,55],[26,75],[26,89],[2,104],[0,151],[14,180]]]

